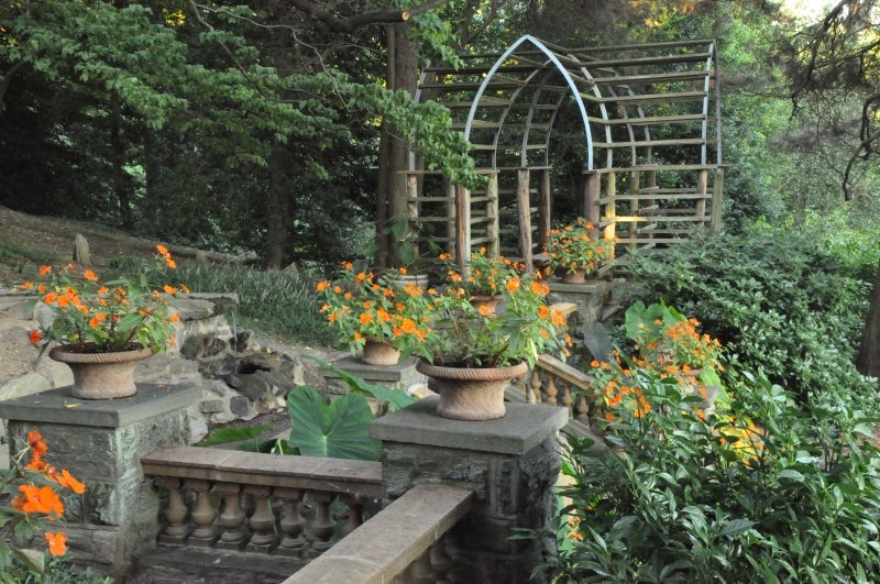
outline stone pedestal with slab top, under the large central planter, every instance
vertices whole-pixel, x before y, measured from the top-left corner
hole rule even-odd
[[[418,484],[474,492],[474,508],[447,538],[453,582],[532,582],[531,570],[552,540],[512,540],[518,528],[552,527],[564,408],[507,404],[504,418],[449,420],[436,397],[383,416],[370,427],[382,440],[385,504]]]

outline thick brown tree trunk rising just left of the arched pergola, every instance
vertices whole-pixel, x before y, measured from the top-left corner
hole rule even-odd
[[[418,84],[418,62],[407,26],[393,24],[388,26],[388,89],[404,89],[414,96]],[[407,217],[406,203],[406,175],[402,170],[408,168],[406,142],[402,136],[394,134],[388,128],[383,128],[380,145],[380,176],[378,192],[376,197],[376,232],[380,250],[376,263],[380,266],[399,265],[394,235],[388,232],[388,227],[395,220]]]

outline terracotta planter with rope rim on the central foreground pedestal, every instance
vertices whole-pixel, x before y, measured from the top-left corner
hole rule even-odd
[[[528,371],[525,362],[509,367],[440,367],[419,361],[416,368],[431,378],[429,387],[440,395],[437,414],[453,420],[503,418],[504,389]]]

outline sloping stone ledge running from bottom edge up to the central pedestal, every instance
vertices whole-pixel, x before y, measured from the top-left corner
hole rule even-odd
[[[394,582],[471,509],[472,493],[418,485],[282,584]]]

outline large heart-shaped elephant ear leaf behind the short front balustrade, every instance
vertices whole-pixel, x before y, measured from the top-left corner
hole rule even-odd
[[[373,411],[366,398],[349,394],[327,404],[307,386],[287,395],[290,443],[306,456],[377,461],[381,443],[370,438]]]

